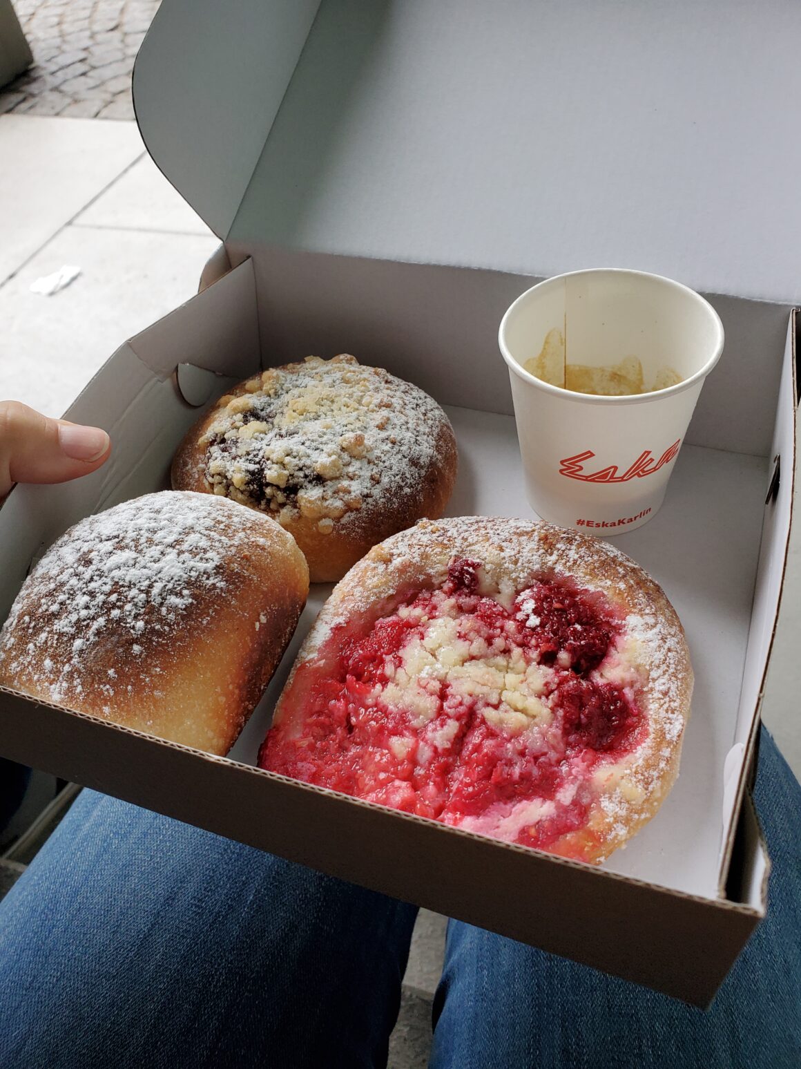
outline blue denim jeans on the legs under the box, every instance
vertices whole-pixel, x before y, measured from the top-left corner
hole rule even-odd
[[[801,789],[767,732],[756,796],[768,917],[710,1011],[452,920],[431,1066],[801,1065]],[[0,1067],[384,1065],[415,912],[84,791],[0,904]]]

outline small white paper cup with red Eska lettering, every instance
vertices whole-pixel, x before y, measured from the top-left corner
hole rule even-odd
[[[664,368],[681,382],[623,397],[551,386],[523,363],[537,357],[554,328],[564,337],[567,363],[601,368],[637,356],[646,386]],[[711,305],[659,275],[574,272],[518,297],[501,321],[499,344],[534,511],[601,536],[653,518],[701,387],[723,350],[723,325]]]

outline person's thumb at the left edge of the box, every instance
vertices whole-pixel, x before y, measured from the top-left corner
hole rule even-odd
[[[0,501],[15,482],[66,482],[95,471],[111,452],[108,434],[0,401]]]

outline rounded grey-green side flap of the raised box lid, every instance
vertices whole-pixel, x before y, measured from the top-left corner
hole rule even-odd
[[[137,57],[134,104],[147,151],[223,237],[319,0],[173,0]]]

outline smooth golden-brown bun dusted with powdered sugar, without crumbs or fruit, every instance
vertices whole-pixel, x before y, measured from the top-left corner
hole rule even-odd
[[[211,754],[258,702],[309,592],[264,516],[164,491],[89,516],[26,579],[0,684]]]

